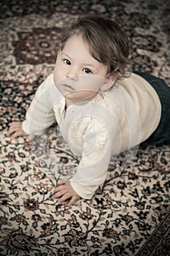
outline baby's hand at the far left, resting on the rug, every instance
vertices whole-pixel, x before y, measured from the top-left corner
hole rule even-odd
[[[7,136],[11,136],[11,140],[18,138],[20,136],[27,136],[27,141],[31,141],[34,139],[34,135],[28,135],[26,132],[23,131],[22,123],[20,121],[14,121],[11,124],[9,124]]]

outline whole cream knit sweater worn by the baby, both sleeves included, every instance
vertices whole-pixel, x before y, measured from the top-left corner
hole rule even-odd
[[[51,74],[36,91],[23,130],[41,135],[57,121],[73,154],[80,156],[71,185],[80,197],[90,199],[107,177],[110,157],[116,159],[120,152],[139,145],[158,127],[161,102],[152,86],[132,73],[89,102],[66,110],[65,105]]]

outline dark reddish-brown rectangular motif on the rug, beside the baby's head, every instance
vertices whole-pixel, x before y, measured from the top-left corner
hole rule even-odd
[[[18,41],[12,43],[17,64],[54,64],[61,39],[60,28],[36,28],[18,32]]]

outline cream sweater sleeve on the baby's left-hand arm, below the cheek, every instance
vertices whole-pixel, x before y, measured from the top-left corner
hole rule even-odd
[[[42,135],[47,127],[55,122],[53,104],[56,101],[58,90],[53,82],[53,74],[39,86],[27,112],[22,126],[24,132],[32,135]]]

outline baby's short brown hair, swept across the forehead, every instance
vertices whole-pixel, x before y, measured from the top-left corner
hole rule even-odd
[[[128,37],[115,21],[97,15],[80,16],[64,29],[61,50],[75,34],[82,34],[82,39],[88,43],[90,55],[107,65],[108,74],[117,74],[117,79],[127,76]]]

